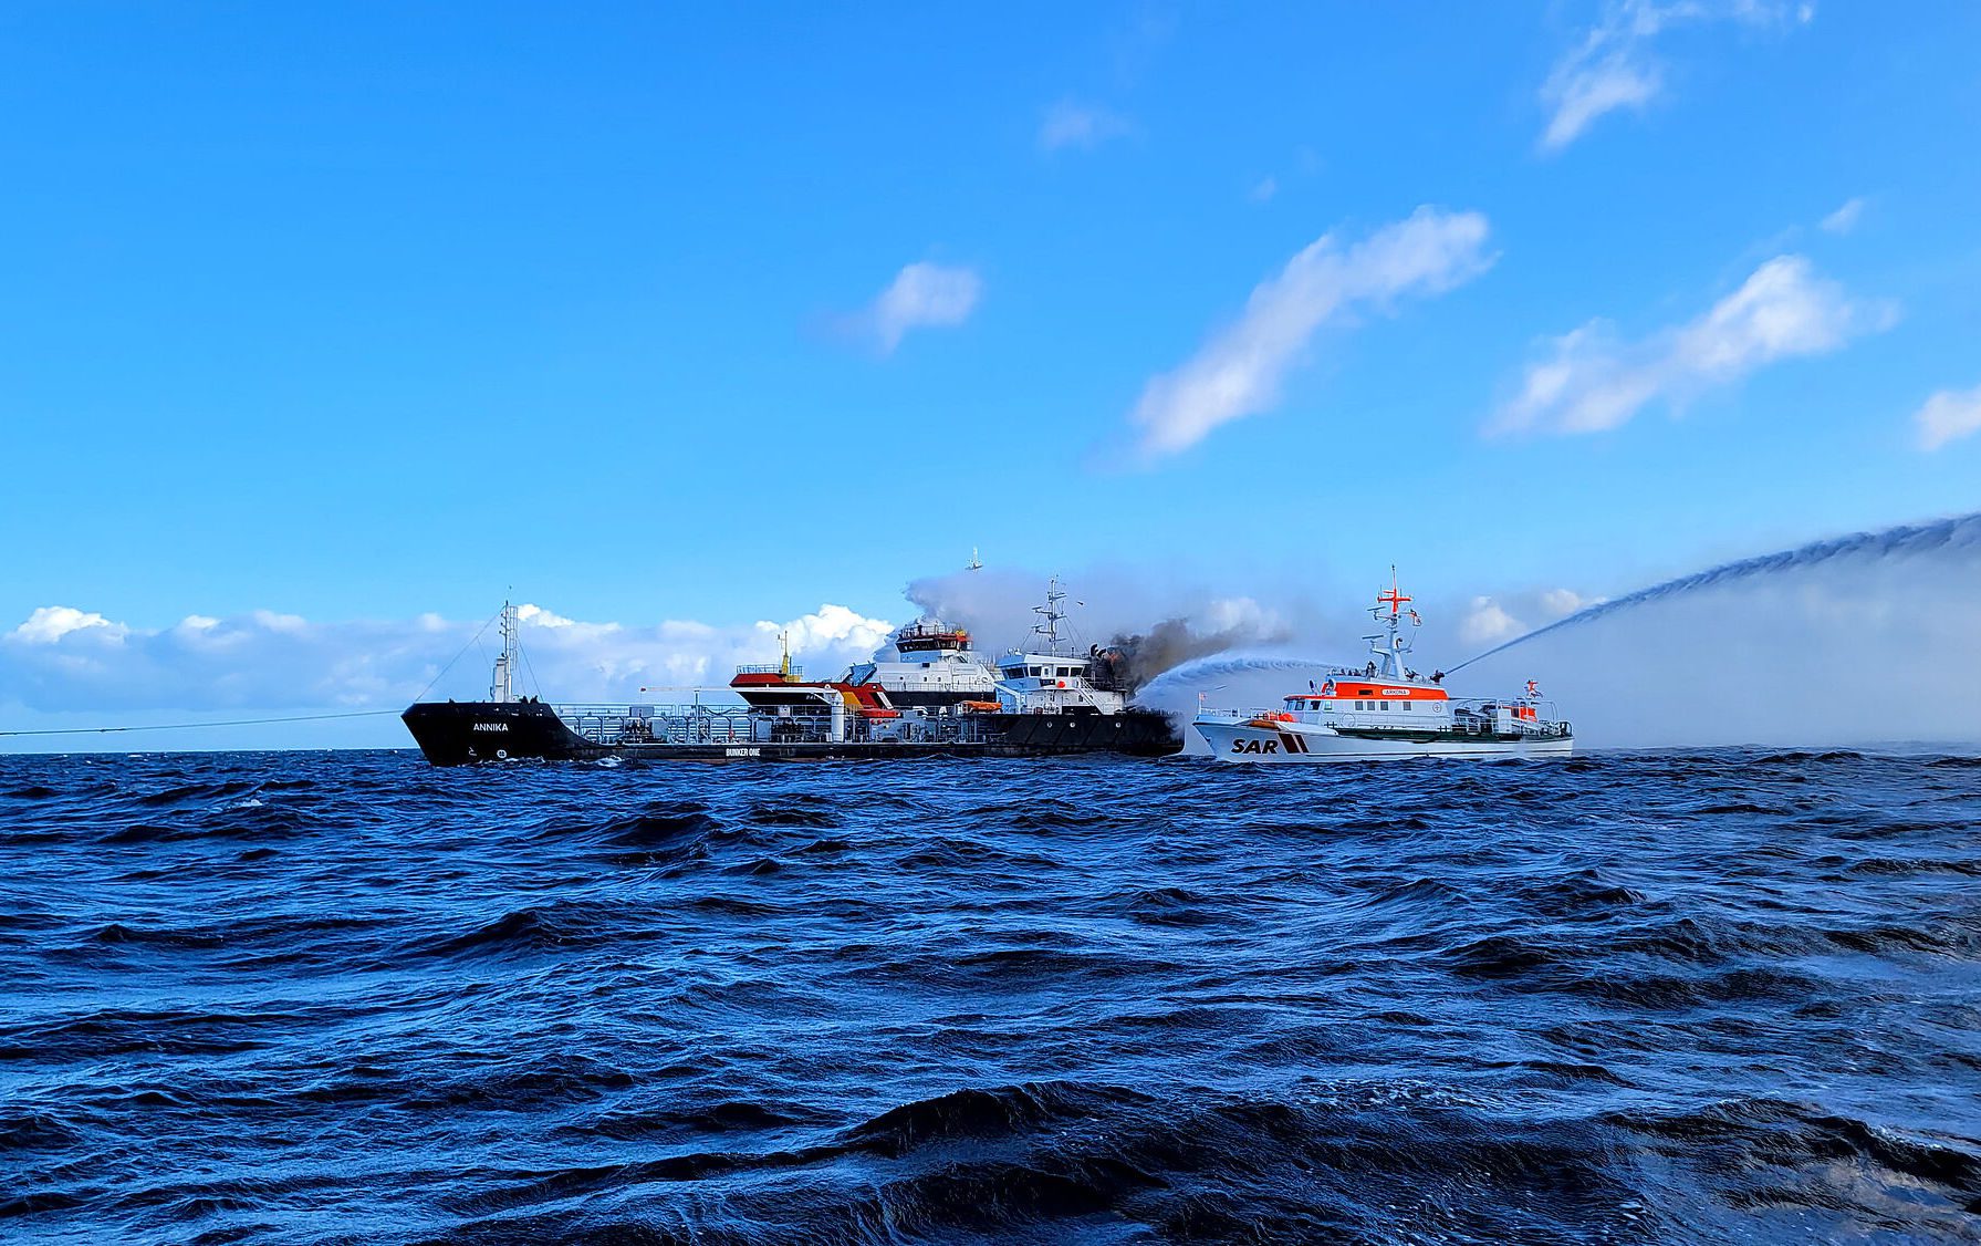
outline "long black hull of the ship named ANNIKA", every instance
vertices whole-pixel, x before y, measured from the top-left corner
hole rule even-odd
[[[1167,757],[1183,735],[1167,713],[981,713],[973,739],[955,741],[666,741],[598,743],[578,735],[537,701],[422,701],[400,715],[420,753],[436,767],[483,761],[800,761],[907,757],[1064,757],[1119,753]]]

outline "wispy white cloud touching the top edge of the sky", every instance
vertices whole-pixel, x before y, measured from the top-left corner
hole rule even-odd
[[[1666,28],[1698,22],[1773,26],[1785,16],[1787,6],[1771,0],[1611,0],[1603,20],[1541,83],[1541,103],[1549,109],[1541,147],[1561,151],[1605,113],[1642,109],[1656,99],[1664,91],[1664,65],[1654,42]],[[1795,16],[1809,22],[1815,10],[1805,4]]]

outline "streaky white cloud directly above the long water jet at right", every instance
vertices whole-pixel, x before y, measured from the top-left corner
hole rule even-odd
[[[1644,341],[1618,341],[1603,321],[1553,339],[1488,432],[1618,428],[1652,400],[1684,404],[1777,359],[1834,351],[1894,317],[1890,303],[1844,295],[1809,260],[1777,256],[1706,315]]]

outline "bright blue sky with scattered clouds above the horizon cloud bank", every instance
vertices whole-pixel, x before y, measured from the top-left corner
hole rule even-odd
[[[1971,4],[18,4],[0,632],[899,620],[971,547],[1601,596],[1971,511],[1977,50]]]

